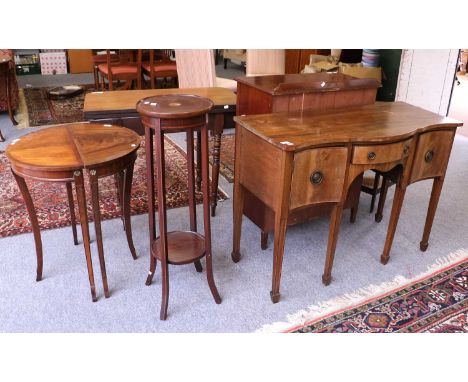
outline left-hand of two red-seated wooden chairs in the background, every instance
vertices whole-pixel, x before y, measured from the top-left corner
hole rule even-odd
[[[114,90],[114,81],[125,81],[118,90],[127,90],[136,82],[136,88],[141,89],[141,66],[135,60],[134,51],[123,50],[119,52],[119,62],[112,63],[110,49],[106,49],[106,63],[98,65],[102,77],[102,90],[105,90],[105,79],[108,82],[108,90]]]

